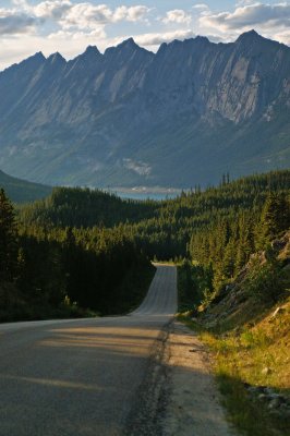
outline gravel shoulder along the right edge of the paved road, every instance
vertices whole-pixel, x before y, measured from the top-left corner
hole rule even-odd
[[[165,436],[234,436],[226,421],[210,371],[209,355],[194,331],[179,322],[167,340],[167,401]]]

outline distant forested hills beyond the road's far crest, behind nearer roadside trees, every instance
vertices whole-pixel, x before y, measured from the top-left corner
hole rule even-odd
[[[270,193],[289,193],[290,171],[252,175],[219,186],[182,193],[164,202],[122,201],[101,191],[57,187],[50,197],[21,209],[24,226],[119,227],[150,257],[169,259],[192,252],[190,241],[214,227],[239,220],[258,225]],[[243,226],[242,221],[240,226]],[[202,238],[202,237],[201,237]]]

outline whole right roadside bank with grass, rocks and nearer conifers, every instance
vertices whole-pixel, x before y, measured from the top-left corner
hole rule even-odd
[[[288,436],[289,199],[270,193],[256,220],[242,219],[242,228],[228,221],[227,232],[217,225],[193,235],[194,257],[179,267],[179,318],[213,352],[229,420],[241,434]]]

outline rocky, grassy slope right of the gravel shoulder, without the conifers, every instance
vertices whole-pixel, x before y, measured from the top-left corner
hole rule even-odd
[[[287,250],[280,257],[289,258],[289,244]],[[257,390],[250,395],[251,388],[267,387],[290,400],[289,264],[283,268],[283,287],[280,300],[266,304],[249,296],[242,279],[197,320],[181,316],[213,352],[229,419],[247,436],[289,436],[290,416],[270,413],[269,402],[258,400]]]

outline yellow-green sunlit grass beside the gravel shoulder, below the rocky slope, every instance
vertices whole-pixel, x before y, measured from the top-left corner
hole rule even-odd
[[[276,307],[278,313],[273,316]],[[213,353],[213,366],[229,420],[247,436],[289,436],[290,420],[269,413],[267,404],[252,398],[249,387],[269,387],[290,396],[290,298],[262,315],[253,311],[251,323],[237,323],[234,329],[206,330],[202,324],[180,317],[200,331]],[[227,324],[227,320],[225,322]]]

